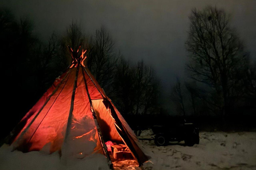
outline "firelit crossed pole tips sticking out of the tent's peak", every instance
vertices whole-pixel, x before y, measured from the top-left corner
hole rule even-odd
[[[70,52],[71,57],[73,59],[72,64],[70,65],[69,68],[76,67],[76,66],[79,66],[79,65],[82,65],[82,66],[85,67],[84,60],[86,58],[86,55],[84,56],[84,53],[87,50],[84,51],[84,49],[83,49],[82,54],[80,56],[78,56],[78,51],[79,51],[80,48],[81,48],[81,45],[79,45],[77,51],[74,51],[70,46],[68,46],[69,52]]]

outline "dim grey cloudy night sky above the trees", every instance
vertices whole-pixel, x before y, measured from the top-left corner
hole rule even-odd
[[[251,57],[256,59],[255,0],[4,0],[19,16],[34,21],[36,33],[47,40],[52,31],[63,32],[74,21],[81,22],[88,33],[103,24],[116,47],[129,60],[144,59],[170,88],[176,76],[184,75],[186,31],[191,9],[213,5],[232,14],[237,29]]]

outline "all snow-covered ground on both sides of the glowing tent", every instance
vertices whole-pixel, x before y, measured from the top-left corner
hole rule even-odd
[[[150,135],[150,132],[142,133]],[[193,147],[184,143],[155,146],[154,141],[143,140],[152,159],[144,163],[145,170],[255,170],[256,132],[200,132],[200,143]],[[64,165],[58,153],[11,152],[4,144],[0,148],[0,170],[106,170],[106,158],[95,154]],[[122,162],[129,170],[139,170]],[[123,168],[122,167],[122,168]]]

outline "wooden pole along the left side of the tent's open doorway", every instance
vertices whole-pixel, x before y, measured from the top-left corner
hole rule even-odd
[[[99,134],[99,137],[100,137],[101,144],[103,146],[103,151],[104,151],[104,153],[105,153],[105,155],[106,155],[106,157],[108,159],[109,168],[113,169],[113,164],[112,164],[112,161],[110,159],[110,156],[109,156],[109,153],[108,153],[108,150],[107,150],[107,146],[106,146],[106,143],[104,142],[104,139],[103,139],[103,136],[102,136],[102,132],[101,132],[98,120],[97,120],[97,116],[96,116],[96,113],[95,113],[93,105],[92,105],[92,100],[91,100],[90,93],[88,91],[88,86],[87,86],[87,82],[86,82],[86,79],[85,79],[85,75],[84,75],[83,69],[82,69],[82,73],[83,73],[83,78],[84,78],[84,83],[85,83],[85,88],[86,88],[87,96],[89,98],[89,102],[90,102],[90,106],[91,106],[92,116],[93,116],[93,119],[94,119],[95,124],[96,124],[96,128],[97,128],[97,131],[98,131],[98,134]]]

